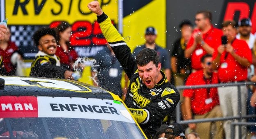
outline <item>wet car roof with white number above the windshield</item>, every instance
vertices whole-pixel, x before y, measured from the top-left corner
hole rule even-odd
[[[65,96],[113,99],[110,92],[100,87],[79,81],[53,78],[0,76],[0,88],[0,96]]]

